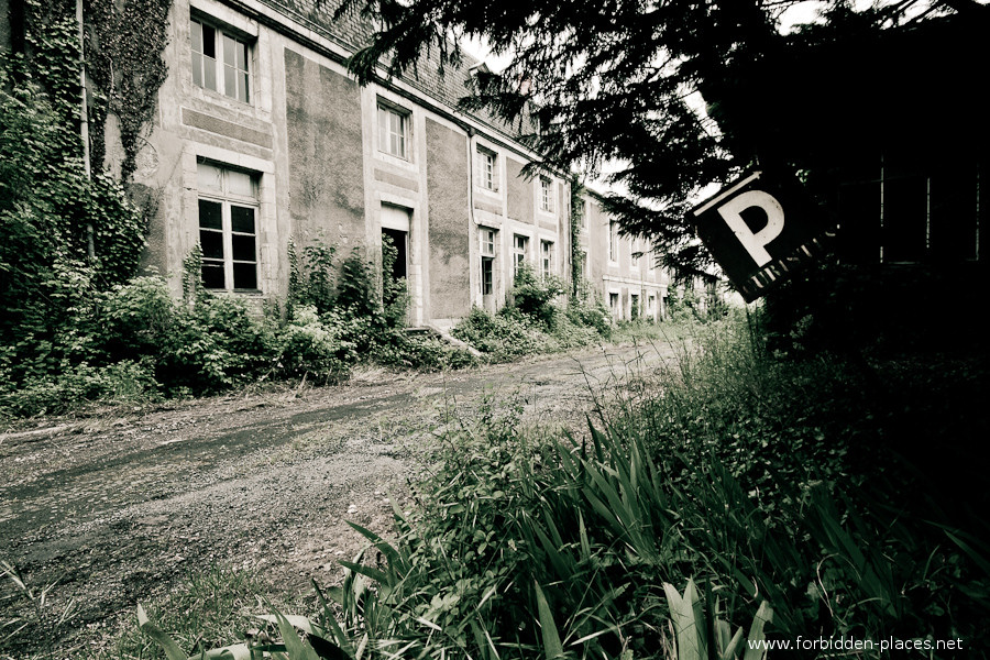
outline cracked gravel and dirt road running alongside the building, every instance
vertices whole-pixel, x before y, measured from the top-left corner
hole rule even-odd
[[[596,396],[661,353],[627,345],[443,374],[365,371],[337,387],[18,429],[0,435],[0,559],[34,584],[58,580],[53,605],[77,600],[76,630],[216,564],[263,568],[285,588],[333,582],[337,560],[363,544],[344,520],[389,529],[387,498],[403,503],[448,425],[515,402],[522,424],[580,429]]]

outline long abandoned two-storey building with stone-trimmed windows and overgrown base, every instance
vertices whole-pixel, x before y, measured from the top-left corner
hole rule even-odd
[[[6,3],[4,3],[6,4]],[[409,323],[450,327],[505,304],[520,264],[572,276],[566,173],[524,177],[536,154],[505,124],[455,108],[472,76],[436,67],[366,87],[345,62],[371,34],[336,2],[175,0],[168,73],[133,182],[156,191],[146,263],[176,296],[202,249],[202,283],[282,298],[289,242],[398,250]],[[119,172],[114,125],[105,167]],[[663,314],[667,277],[585,195],[578,253],[617,318]]]

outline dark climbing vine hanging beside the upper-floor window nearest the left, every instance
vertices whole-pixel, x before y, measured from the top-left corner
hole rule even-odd
[[[168,74],[162,51],[168,43],[170,7],[172,0],[87,0],[84,6],[87,70],[97,86],[91,162],[103,162],[106,121],[112,113],[120,122],[123,182],[134,174],[141,134],[154,117],[158,88]]]

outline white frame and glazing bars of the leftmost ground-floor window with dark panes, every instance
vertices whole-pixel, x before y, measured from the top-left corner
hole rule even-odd
[[[261,216],[261,205],[258,202],[258,175],[257,173],[244,172],[241,169],[234,169],[231,167],[227,167],[222,164],[212,163],[212,162],[200,162],[197,164],[197,169],[200,166],[213,167],[220,172],[220,188],[219,189],[204,189],[201,186],[198,186],[197,190],[197,199],[196,199],[196,218],[197,218],[197,229],[199,231],[200,244],[202,243],[204,232],[207,233],[219,233],[221,234],[221,245],[222,245],[222,255],[218,257],[207,256],[204,254],[202,264],[204,268],[207,266],[216,266],[220,265],[223,267],[223,287],[209,287],[210,290],[227,290],[227,292],[258,292],[261,290],[261,231],[260,231],[260,216]],[[249,176],[251,179],[251,194],[243,195],[239,193],[234,193],[231,190],[230,186],[230,173],[238,173],[245,176]],[[200,201],[207,201],[212,204],[220,204],[220,229],[208,228],[202,226],[202,219],[200,218]],[[232,220],[232,207],[238,208],[248,208],[251,209],[254,213],[254,231],[245,232],[245,231],[234,231],[233,230],[233,220]],[[233,257],[233,243],[235,237],[252,237],[254,242],[254,258],[253,260],[235,260]],[[254,265],[254,287],[234,287],[234,265]],[[201,277],[201,274],[200,274]],[[206,284],[204,283],[204,286]]]

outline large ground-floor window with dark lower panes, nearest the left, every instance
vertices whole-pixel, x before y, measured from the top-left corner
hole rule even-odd
[[[257,289],[256,180],[208,163],[197,166],[202,286]]]

